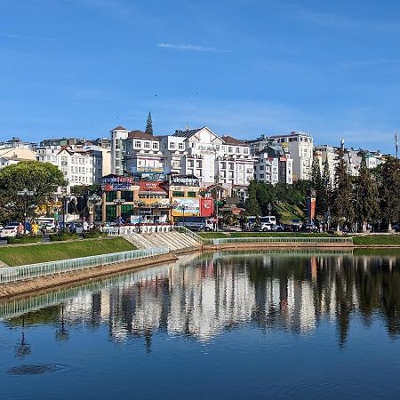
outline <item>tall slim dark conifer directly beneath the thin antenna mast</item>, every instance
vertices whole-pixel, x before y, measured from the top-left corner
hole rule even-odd
[[[353,184],[348,175],[348,164],[344,151],[339,150],[335,167],[335,181],[332,191],[332,221],[338,227],[354,220]]]

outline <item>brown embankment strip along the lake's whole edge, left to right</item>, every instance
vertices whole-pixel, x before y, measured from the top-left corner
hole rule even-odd
[[[355,250],[355,249],[399,249],[397,244],[370,244],[355,245],[343,243],[235,243],[235,244],[203,244],[202,247],[191,247],[181,250],[180,252],[170,252],[147,259],[132,260],[118,264],[109,264],[105,266],[86,268],[79,271],[66,272],[51,276],[41,276],[34,279],[20,281],[12,284],[0,285],[0,300],[11,298],[25,297],[29,294],[47,291],[56,287],[65,287],[72,284],[78,284],[92,279],[101,279],[107,276],[120,275],[139,268],[148,268],[161,263],[174,262],[179,259],[180,255],[191,252],[219,252],[221,250],[268,250],[286,249],[321,249],[321,250]]]

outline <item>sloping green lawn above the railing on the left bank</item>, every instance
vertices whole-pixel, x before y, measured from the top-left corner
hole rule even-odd
[[[36,264],[45,261],[75,259],[108,252],[126,252],[135,246],[123,237],[76,242],[32,244],[18,247],[0,247],[0,260],[9,266]]]

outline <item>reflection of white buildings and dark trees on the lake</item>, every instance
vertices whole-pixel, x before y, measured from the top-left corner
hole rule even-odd
[[[155,332],[212,340],[252,324],[263,332],[311,334],[328,319],[344,346],[355,316],[364,324],[379,316],[390,336],[399,334],[398,255],[192,254],[173,265],[3,302],[0,316],[22,327],[19,355],[29,348],[29,324],[54,324],[57,340],[68,340],[73,326],[107,325],[110,340],[140,338],[150,352]]]

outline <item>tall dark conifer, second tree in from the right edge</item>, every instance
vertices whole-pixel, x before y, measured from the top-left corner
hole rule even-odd
[[[356,180],[355,199],[356,221],[362,224],[363,230],[366,230],[367,222],[372,222],[378,216],[379,202],[377,182],[367,167],[364,154]]]

